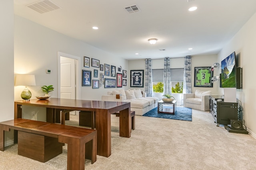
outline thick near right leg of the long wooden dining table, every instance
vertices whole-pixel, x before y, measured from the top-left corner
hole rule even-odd
[[[109,157],[111,155],[111,114],[107,109],[96,109],[97,154]]]

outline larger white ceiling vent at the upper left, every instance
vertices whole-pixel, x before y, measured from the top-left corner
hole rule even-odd
[[[53,10],[58,10],[61,8],[60,6],[54,4],[50,0],[41,0],[34,4],[30,4],[27,7],[31,8],[32,10],[35,10],[36,12],[39,12],[40,14],[43,14],[45,12],[50,12]]]

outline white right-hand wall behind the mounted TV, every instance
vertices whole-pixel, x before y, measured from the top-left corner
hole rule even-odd
[[[256,13],[248,22],[236,33],[231,41],[218,54],[218,62],[228,57],[233,51],[240,54],[239,65],[242,67],[242,90],[236,90],[236,97],[242,102],[243,118],[248,131],[256,138],[256,79],[254,68],[256,63]],[[219,94],[223,94],[223,88],[218,89]]]

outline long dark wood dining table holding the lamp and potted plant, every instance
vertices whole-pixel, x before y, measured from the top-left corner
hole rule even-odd
[[[56,110],[92,111],[95,113],[97,130],[97,154],[111,155],[111,114],[119,111],[120,137],[131,137],[130,102],[106,102],[94,100],[74,100],[49,98],[14,102],[14,119],[22,118],[22,105],[46,107],[46,121],[55,123]]]

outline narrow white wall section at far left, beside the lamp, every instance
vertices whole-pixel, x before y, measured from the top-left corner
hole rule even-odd
[[[0,122],[14,118],[14,9],[12,0],[0,1]],[[5,133],[5,141],[12,133]],[[5,143],[6,143],[5,142]]]

